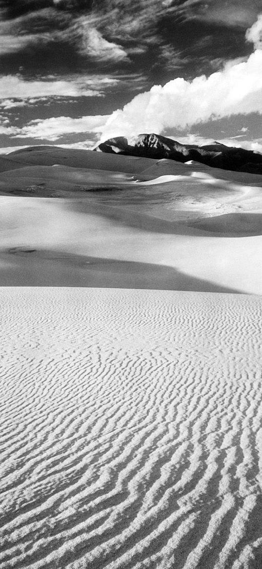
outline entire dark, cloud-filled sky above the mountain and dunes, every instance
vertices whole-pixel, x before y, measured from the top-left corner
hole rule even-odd
[[[261,0],[0,0],[0,148],[140,133],[262,152]]]

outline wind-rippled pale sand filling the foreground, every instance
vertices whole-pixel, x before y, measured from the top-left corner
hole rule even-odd
[[[259,569],[261,296],[0,290],[3,569]]]

